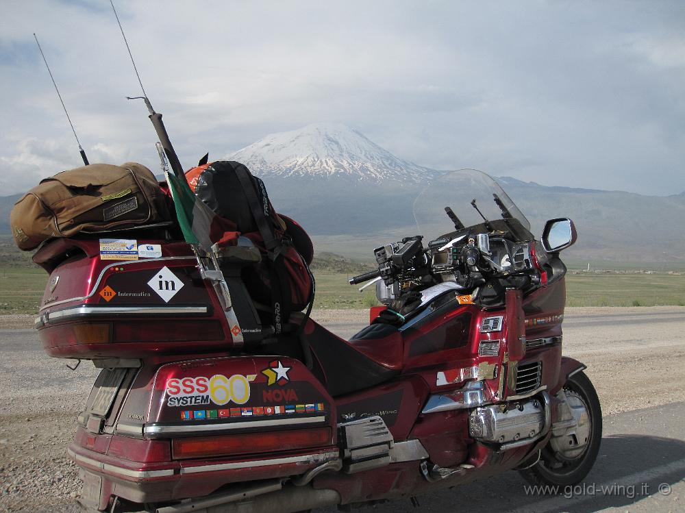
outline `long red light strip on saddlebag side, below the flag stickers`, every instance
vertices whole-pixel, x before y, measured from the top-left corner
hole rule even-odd
[[[221,455],[289,451],[331,445],[332,442],[331,428],[319,427],[292,431],[176,438],[171,441],[171,448],[174,460],[186,460]]]

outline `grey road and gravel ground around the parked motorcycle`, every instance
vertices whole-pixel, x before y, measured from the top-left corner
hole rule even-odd
[[[316,312],[343,337],[365,316]],[[564,353],[588,365],[605,414],[584,487],[544,496],[511,472],[419,497],[423,510],[685,510],[685,308],[569,308]],[[75,511],[79,479],[65,451],[97,372],[89,362],[76,371],[66,363],[42,353],[35,331],[0,329],[0,511]],[[393,501],[369,511],[415,510]]]

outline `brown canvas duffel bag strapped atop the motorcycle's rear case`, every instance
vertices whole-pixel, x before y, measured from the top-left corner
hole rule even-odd
[[[10,214],[14,242],[24,251],[51,237],[135,227],[169,220],[155,175],[136,162],[91,164],[40,181]]]

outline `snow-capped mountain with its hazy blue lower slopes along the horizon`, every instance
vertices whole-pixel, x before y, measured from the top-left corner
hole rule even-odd
[[[310,234],[371,235],[379,242],[390,232],[416,233],[413,201],[440,174],[401,160],[336,123],[271,134],[227,158],[262,177],[275,208]],[[685,264],[685,192],[654,197],[548,187],[512,177],[497,180],[536,235],[549,218],[573,218],[579,239],[566,253],[571,258]],[[9,232],[10,209],[18,197],[0,198],[0,233]]]

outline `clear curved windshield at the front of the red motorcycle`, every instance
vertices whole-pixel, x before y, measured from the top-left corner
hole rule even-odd
[[[456,229],[446,207],[464,225],[464,232]],[[475,169],[447,171],[434,179],[416,197],[414,218],[424,244],[466,231],[503,232],[517,242],[534,239],[530,223],[507,193],[492,177]]]

